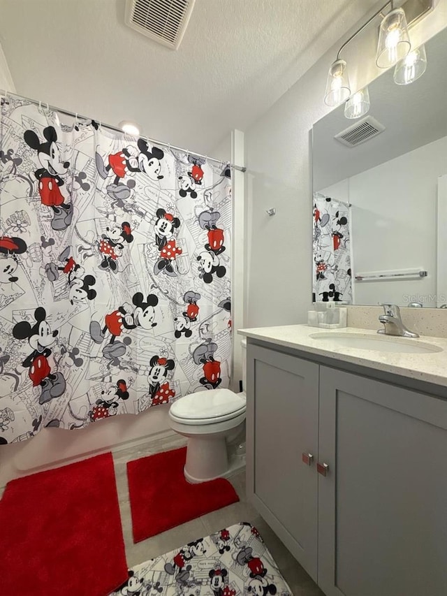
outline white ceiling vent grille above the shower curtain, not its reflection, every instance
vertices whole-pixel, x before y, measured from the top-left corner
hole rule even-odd
[[[196,0],[126,0],[126,25],[177,50]]]

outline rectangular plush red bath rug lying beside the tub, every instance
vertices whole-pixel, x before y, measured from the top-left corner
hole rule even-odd
[[[126,581],[111,453],[8,482],[0,528],[1,594],[103,596]]]

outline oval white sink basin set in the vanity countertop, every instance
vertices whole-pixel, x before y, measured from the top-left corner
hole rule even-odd
[[[312,340],[324,342],[325,346],[334,351],[339,348],[354,348],[358,350],[374,350],[395,352],[400,354],[434,354],[442,351],[438,346],[426,344],[420,340],[408,340],[394,335],[362,335],[354,333],[312,333]],[[323,347],[323,346],[322,346]]]

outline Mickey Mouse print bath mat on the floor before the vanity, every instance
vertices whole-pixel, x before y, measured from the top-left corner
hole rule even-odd
[[[244,522],[136,565],[110,596],[136,593],[292,596],[258,530]]]

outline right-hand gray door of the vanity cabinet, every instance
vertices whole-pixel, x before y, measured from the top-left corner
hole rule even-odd
[[[320,368],[318,585],[447,594],[447,402]]]

